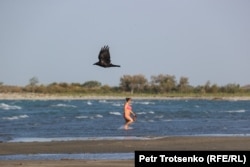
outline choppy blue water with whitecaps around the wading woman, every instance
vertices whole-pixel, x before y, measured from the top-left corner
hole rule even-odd
[[[133,100],[137,121],[127,131],[122,128],[123,103],[0,100],[0,141],[250,135],[250,101]]]

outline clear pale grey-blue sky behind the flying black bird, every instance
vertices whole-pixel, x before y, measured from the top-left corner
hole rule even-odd
[[[0,0],[0,82],[250,84],[249,0]],[[121,68],[94,66],[104,45]]]

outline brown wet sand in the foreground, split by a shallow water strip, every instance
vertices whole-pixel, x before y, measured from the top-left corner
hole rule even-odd
[[[0,156],[38,153],[133,153],[135,150],[250,150],[250,137],[164,137],[151,140],[90,140],[0,143]],[[134,160],[2,160],[0,166],[134,166]]]

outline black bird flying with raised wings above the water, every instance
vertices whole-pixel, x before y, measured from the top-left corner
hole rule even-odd
[[[98,65],[98,66],[101,66],[104,68],[121,67],[120,65],[114,65],[111,63],[108,45],[101,48],[98,59],[99,59],[99,61],[94,63],[93,65]]]

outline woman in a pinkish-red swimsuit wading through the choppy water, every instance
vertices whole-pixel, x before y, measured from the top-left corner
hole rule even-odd
[[[124,129],[127,130],[128,126],[135,121],[136,115],[132,111],[131,107],[131,98],[126,98],[126,102],[124,104],[124,113],[123,117],[125,119]],[[131,114],[134,116],[134,119],[131,117]]]

